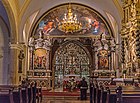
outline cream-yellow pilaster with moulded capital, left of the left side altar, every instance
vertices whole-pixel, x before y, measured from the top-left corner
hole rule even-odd
[[[22,72],[19,73],[19,53],[23,50],[23,44],[10,44],[10,83],[18,85],[23,77],[25,77],[25,60],[22,61]]]

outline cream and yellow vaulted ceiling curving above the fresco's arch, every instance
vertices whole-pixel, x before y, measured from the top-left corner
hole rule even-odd
[[[108,21],[108,23],[112,25],[111,19],[107,16],[107,13],[109,13],[109,15],[116,20],[118,30],[120,31],[121,29],[121,19],[123,15],[121,0],[2,0],[2,2],[6,2],[8,5],[10,5],[6,7],[6,10],[10,10],[13,13],[16,22],[17,34],[19,34],[19,42],[23,41],[23,37],[28,38],[28,35],[23,36],[25,24],[30,25],[29,27],[32,28],[37,20],[47,10],[69,2],[84,4],[97,10]],[[33,17],[33,15],[36,17]],[[28,31],[26,32],[28,34],[31,33],[30,30],[26,31]]]

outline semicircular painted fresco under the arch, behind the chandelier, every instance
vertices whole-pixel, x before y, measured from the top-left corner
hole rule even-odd
[[[80,28],[73,32],[69,32],[71,27],[64,27],[68,31],[62,30],[62,23],[68,17],[69,6],[72,18],[76,17],[76,22],[80,24]],[[61,26],[60,26],[61,25]],[[103,17],[95,10],[78,4],[65,4],[57,6],[46,12],[39,20],[34,31],[34,35],[39,35],[42,30],[44,35],[101,35],[110,34],[109,26]]]

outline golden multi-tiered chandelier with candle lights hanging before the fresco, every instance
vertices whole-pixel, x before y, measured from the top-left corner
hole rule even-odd
[[[78,21],[77,15],[72,13],[70,4],[68,12],[64,14],[63,20],[58,24],[58,29],[65,33],[74,33],[82,29],[82,24]]]

